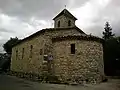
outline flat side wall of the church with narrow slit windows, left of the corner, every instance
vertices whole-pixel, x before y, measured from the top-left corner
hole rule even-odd
[[[36,43],[37,42],[37,43]],[[28,72],[28,73],[40,73],[43,55],[40,55],[40,49],[44,53],[44,36],[37,36],[31,40],[26,40],[25,42],[13,47],[12,49],[12,61],[11,70],[18,72]],[[30,56],[30,47],[32,48],[32,56]],[[22,58],[22,49],[24,48],[24,56]],[[16,50],[18,50],[18,56],[16,57]]]

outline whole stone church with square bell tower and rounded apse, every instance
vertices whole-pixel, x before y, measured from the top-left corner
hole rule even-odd
[[[77,18],[67,9],[53,20],[54,28],[42,29],[13,46],[11,71],[51,74],[61,82],[101,82],[103,40],[79,29]]]

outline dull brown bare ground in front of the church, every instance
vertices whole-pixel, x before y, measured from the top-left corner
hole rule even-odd
[[[120,79],[109,79],[108,82],[91,85],[59,85],[32,82],[14,76],[0,75],[0,90],[120,90]]]

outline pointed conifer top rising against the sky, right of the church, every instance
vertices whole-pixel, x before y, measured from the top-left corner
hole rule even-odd
[[[104,40],[111,39],[113,36],[115,36],[115,34],[112,34],[112,28],[111,28],[109,22],[106,22],[104,30],[105,30],[103,32],[103,39]]]

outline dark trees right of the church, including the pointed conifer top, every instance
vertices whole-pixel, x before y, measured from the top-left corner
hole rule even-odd
[[[104,71],[106,75],[120,75],[120,37],[114,37],[109,22],[103,32]]]

